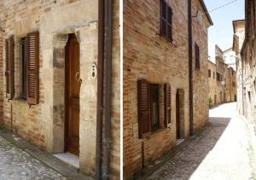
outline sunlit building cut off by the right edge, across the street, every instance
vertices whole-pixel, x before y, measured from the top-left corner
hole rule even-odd
[[[256,114],[256,54],[255,54],[255,0],[246,0],[245,11],[245,38],[241,47],[241,86],[242,110],[247,119],[253,122],[255,127]],[[236,39],[235,39],[236,40]],[[237,44],[237,40],[235,42]],[[237,47],[238,45],[236,45]],[[240,102],[241,103],[241,102]]]

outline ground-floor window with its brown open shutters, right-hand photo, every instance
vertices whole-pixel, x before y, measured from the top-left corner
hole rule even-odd
[[[171,86],[164,84],[164,95],[160,96],[160,84],[150,84],[147,80],[137,81],[138,132],[139,138],[150,136],[160,128],[160,97],[164,97],[164,125],[171,124]],[[162,107],[162,106],[161,106]]]

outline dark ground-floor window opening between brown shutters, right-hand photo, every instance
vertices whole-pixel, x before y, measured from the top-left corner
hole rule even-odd
[[[159,96],[159,85],[150,84],[151,131],[155,131],[160,127]]]

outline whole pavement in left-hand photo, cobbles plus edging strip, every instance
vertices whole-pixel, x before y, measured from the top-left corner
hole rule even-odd
[[[93,179],[0,126],[0,179]]]

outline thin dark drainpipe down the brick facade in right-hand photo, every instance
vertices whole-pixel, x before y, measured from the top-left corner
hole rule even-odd
[[[192,63],[192,4],[188,0],[189,12],[189,116],[190,116],[190,136],[194,134],[194,119],[193,119],[193,63]]]

